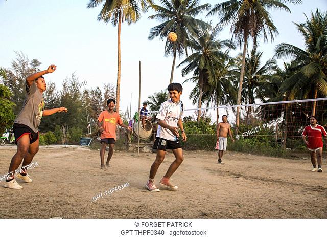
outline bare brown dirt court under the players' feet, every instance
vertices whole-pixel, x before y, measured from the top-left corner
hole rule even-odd
[[[15,150],[0,146],[1,176]],[[17,179],[23,189],[0,187],[0,218],[327,218],[327,172],[311,172],[309,154],[289,160],[227,151],[225,165],[218,165],[215,152],[184,151],[172,177],[179,189],[169,191],[158,184],[174,160],[168,153],[155,178],[162,190],[150,192],[144,185],[154,158],[115,152],[103,171],[99,151],[41,146],[33,160],[39,166],[29,171],[33,183]]]

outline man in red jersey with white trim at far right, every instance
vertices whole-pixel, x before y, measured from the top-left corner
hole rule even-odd
[[[313,165],[311,171],[322,172],[322,136],[326,137],[327,132],[324,127],[317,124],[317,118],[315,116],[310,116],[309,121],[310,125],[305,127],[305,130],[302,133],[302,139],[303,142],[307,144],[308,150],[310,150],[311,163]],[[308,141],[306,140],[306,136],[308,136]],[[324,140],[327,145],[327,139],[324,138]],[[316,168],[316,155],[318,161],[318,170]]]

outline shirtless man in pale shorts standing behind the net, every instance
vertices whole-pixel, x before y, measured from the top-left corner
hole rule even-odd
[[[233,136],[231,135],[230,124],[227,123],[227,115],[223,115],[221,117],[221,119],[223,122],[220,122],[217,125],[217,144],[219,144],[218,163],[224,164],[223,161],[221,161],[221,158],[223,157],[224,151],[226,151],[227,134],[229,134],[229,136],[233,142],[235,142],[235,140],[233,139]]]

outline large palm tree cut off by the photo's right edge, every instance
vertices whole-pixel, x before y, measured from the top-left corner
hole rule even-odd
[[[281,91],[289,92],[290,97],[301,93],[302,97],[316,99],[327,96],[327,12],[316,9],[306,23],[295,24],[305,38],[306,49],[282,43],[276,47],[277,58],[290,57],[296,63],[298,72],[287,78]],[[315,115],[316,101],[312,115]]]

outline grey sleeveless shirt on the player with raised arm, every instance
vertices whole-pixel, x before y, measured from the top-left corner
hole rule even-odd
[[[26,98],[14,123],[29,126],[32,131],[37,133],[44,111],[44,98],[35,81],[33,81],[30,87],[26,83],[25,87]]]

